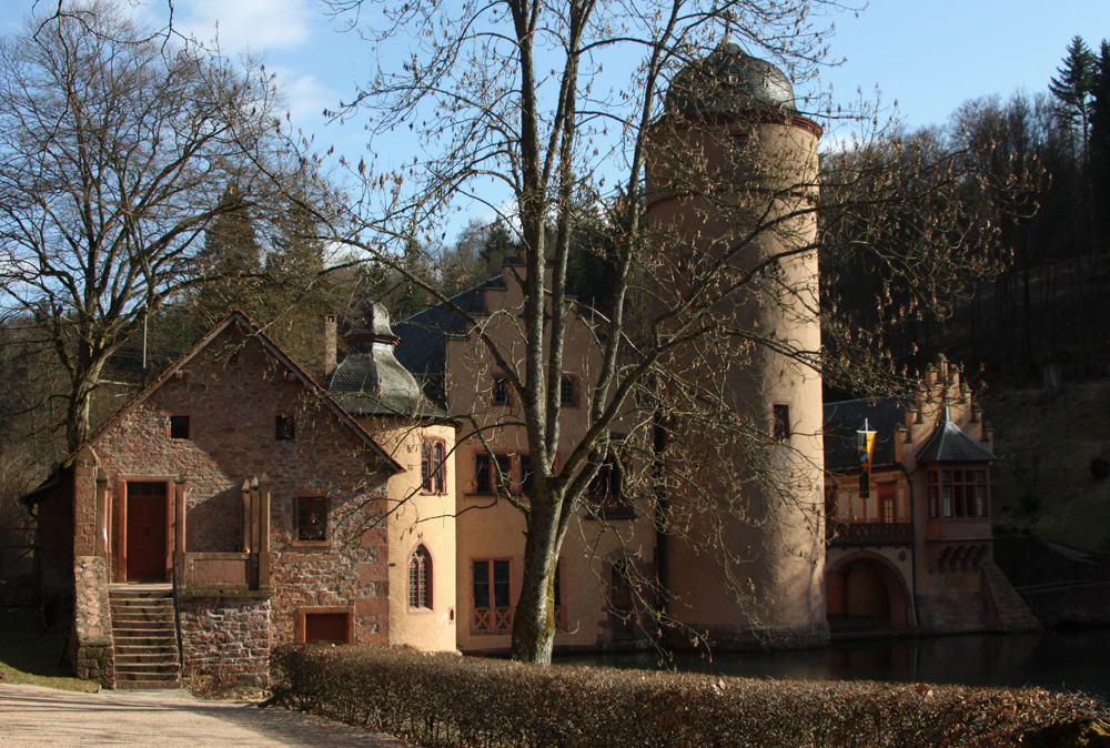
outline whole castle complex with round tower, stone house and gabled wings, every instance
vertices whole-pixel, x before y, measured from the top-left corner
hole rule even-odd
[[[724,648],[1036,626],[991,562],[995,457],[958,368],[941,362],[905,397],[823,404],[819,375],[781,353],[820,350],[816,222],[798,210],[817,200],[820,129],[786,77],[725,42],[676,75],[655,128],[660,303],[688,291],[706,257],[725,276],[765,279],[709,312],[755,321],[777,344],[741,367],[715,351],[682,365],[764,424],[775,481],[746,486],[746,522],[679,491],[668,501],[686,527],[669,533],[654,498],[623,489],[629,466],[606,463],[557,560],[556,647],[654,635],[636,578],[659,580],[674,593],[668,615]],[[803,218],[753,235],[734,218],[745,211]],[[515,365],[523,280],[511,262],[397,325],[366,303],[342,361],[325,323],[316,372],[233,313],[101,425],[24,496],[39,593],[72,603],[78,671],[115,687],[181,673],[265,681],[268,653],[286,641],[506,651],[532,462],[505,372],[452,309]],[[567,443],[588,427],[598,338],[572,305]],[[874,445],[864,481],[859,432]],[[709,433],[692,444],[743,477],[734,446]],[[710,535],[720,542],[700,543]]]

